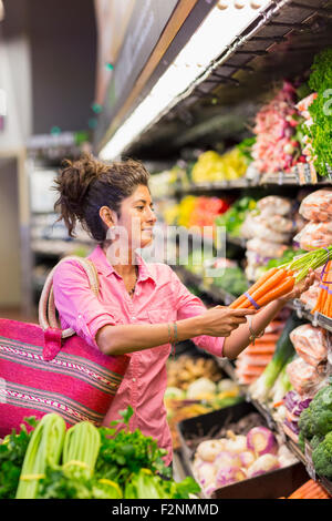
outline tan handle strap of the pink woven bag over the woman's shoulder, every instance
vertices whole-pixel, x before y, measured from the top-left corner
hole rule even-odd
[[[89,278],[89,284],[92,292],[95,296],[98,295],[98,277],[93,262],[87,258],[77,256],[63,257],[49,273],[39,300],[39,324],[43,328],[43,330],[46,330],[49,327],[56,329],[61,328],[56,318],[56,310],[54,304],[53,275],[56,266],[59,266],[59,264],[63,263],[64,260],[76,260],[83,267]],[[68,328],[62,331],[61,337],[69,338],[73,335],[75,335],[74,329]]]

